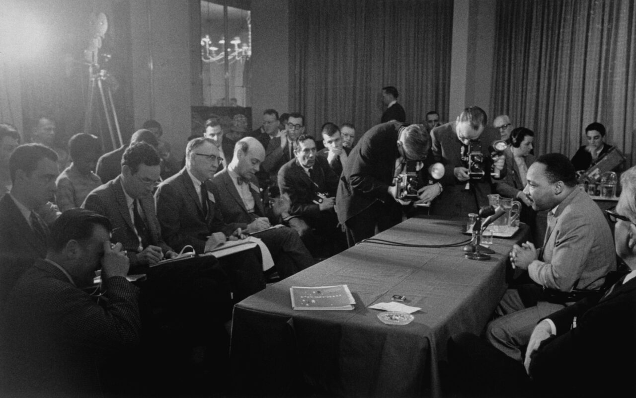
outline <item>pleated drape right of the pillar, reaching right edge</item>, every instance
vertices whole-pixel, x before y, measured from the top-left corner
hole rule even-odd
[[[633,165],[636,3],[499,0],[490,109],[537,133],[536,153],[572,156],[593,121]]]

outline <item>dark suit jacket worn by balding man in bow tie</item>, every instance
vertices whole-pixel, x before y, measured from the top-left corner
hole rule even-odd
[[[249,182],[249,186],[252,198],[254,198],[254,214],[258,217],[270,218],[269,216],[272,215],[266,212],[265,207],[263,207],[263,202],[261,201],[258,181],[253,179]],[[232,223],[238,226],[237,228],[244,230],[247,228],[247,224],[252,223],[252,221],[256,219],[254,214],[247,212],[245,204],[240,198],[239,191],[237,191],[237,188],[234,186],[232,177],[230,177],[230,173],[228,173],[227,169],[214,175],[212,179],[212,193],[214,193],[214,198],[216,198],[219,203],[216,210],[221,212],[221,217],[223,217],[224,220],[232,221]],[[275,222],[275,220],[272,219],[272,222]]]

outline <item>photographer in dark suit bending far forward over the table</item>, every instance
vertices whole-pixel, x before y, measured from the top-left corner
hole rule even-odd
[[[430,146],[424,128],[397,121],[372,127],[361,137],[349,154],[336,195],[336,214],[349,246],[372,237],[376,228],[384,231],[402,221],[394,177],[404,160],[426,160]],[[426,186],[418,202],[428,202],[440,191],[438,184]]]

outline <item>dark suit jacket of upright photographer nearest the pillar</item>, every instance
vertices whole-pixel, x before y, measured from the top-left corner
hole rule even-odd
[[[431,214],[441,216],[466,216],[469,213],[478,212],[481,206],[488,205],[488,196],[494,192],[490,177],[489,161],[485,161],[486,175],[479,181],[471,181],[470,189],[466,191],[466,181],[460,182],[455,178],[455,167],[466,167],[461,157],[462,142],[457,138],[455,122],[446,123],[436,127],[431,132],[432,153],[436,161],[443,163],[445,167],[441,184],[444,191],[431,203]],[[501,135],[495,128],[484,128],[479,138],[481,153],[487,153],[488,147],[493,141],[501,139]],[[506,177],[506,168],[501,171],[501,178]]]

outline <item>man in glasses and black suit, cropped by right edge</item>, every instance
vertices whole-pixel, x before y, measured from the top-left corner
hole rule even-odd
[[[616,209],[606,213],[627,273],[617,273],[618,281],[606,284],[603,294],[540,320],[525,352],[525,369],[477,336],[454,336],[450,374],[466,390],[459,396],[636,396],[636,167],[621,175],[621,188]]]

